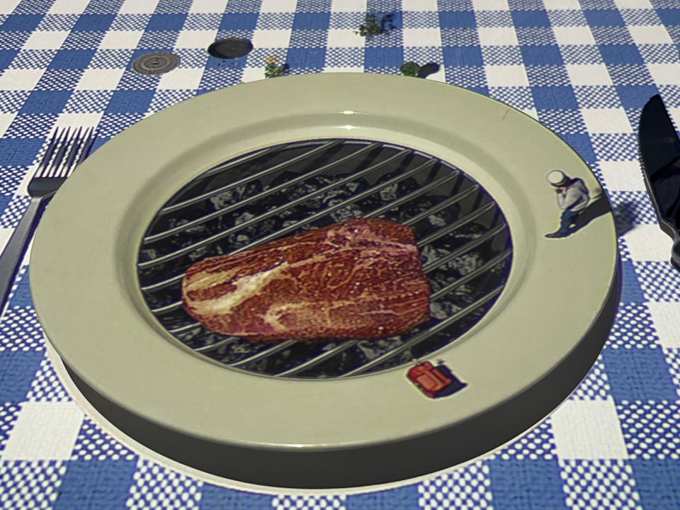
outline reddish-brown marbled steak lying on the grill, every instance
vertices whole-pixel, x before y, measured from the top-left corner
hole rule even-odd
[[[429,318],[430,287],[412,229],[356,219],[191,266],[184,307],[254,341],[380,339]]]

